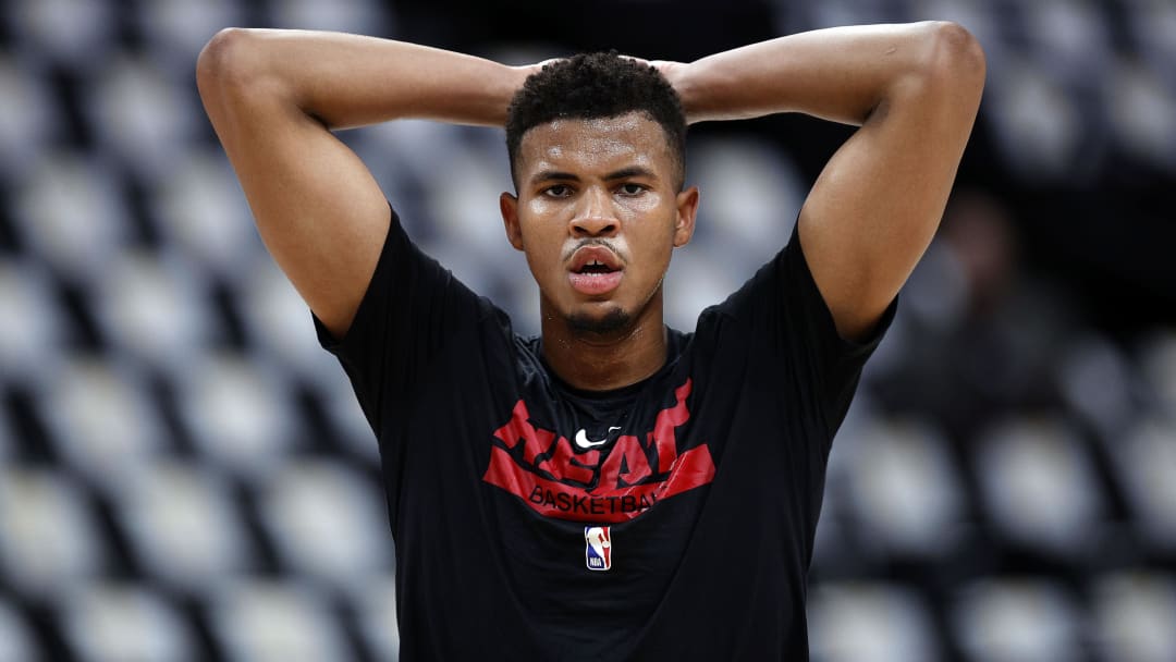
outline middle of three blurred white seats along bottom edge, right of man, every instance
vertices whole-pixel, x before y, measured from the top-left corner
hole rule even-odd
[[[981,580],[951,610],[956,641],[971,662],[1073,662],[1081,655],[1081,614],[1041,580]]]

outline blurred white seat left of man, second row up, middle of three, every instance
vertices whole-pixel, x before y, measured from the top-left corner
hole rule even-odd
[[[255,563],[230,486],[195,462],[152,463],[123,482],[115,504],[145,570],[167,586],[203,594]]]

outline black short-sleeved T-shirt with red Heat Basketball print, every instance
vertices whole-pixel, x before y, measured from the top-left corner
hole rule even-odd
[[[379,437],[402,660],[807,660],[829,446],[864,345],[795,233],[666,366],[580,392],[393,214],[335,354]]]

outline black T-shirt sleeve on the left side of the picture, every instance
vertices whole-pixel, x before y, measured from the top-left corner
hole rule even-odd
[[[320,345],[339,359],[376,435],[386,412],[405,409],[413,385],[453,334],[489,309],[422,253],[390,214],[375,272],[346,335],[333,337],[314,317]]]

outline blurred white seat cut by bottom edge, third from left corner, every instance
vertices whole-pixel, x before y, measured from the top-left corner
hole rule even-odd
[[[348,660],[339,623],[320,594],[295,582],[245,581],[209,606],[214,636],[230,662]]]

